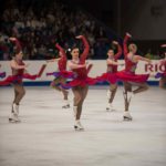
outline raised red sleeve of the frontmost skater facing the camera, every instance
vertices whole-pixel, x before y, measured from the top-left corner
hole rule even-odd
[[[84,44],[84,51],[83,53],[81,54],[81,63],[85,63],[85,60],[87,58],[87,54],[89,54],[89,51],[90,51],[90,45],[89,45],[89,42],[87,40],[85,39],[85,37],[82,37],[82,41],[83,41],[83,44]]]

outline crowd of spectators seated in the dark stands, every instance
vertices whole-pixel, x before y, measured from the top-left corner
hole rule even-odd
[[[81,10],[58,1],[14,1],[6,3],[0,25],[0,60],[12,56],[9,37],[20,40],[25,60],[46,60],[58,54],[54,44],[65,50],[82,48],[76,35],[83,34],[91,45],[90,59],[106,56],[110,42],[106,32]],[[95,58],[94,58],[95,56]]]

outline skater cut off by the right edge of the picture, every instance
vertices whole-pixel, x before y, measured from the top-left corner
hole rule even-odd
[[[166,44],[163,44],[160,46],[166,48]],[[155,77],[159,79],[159,87],[166,90],[166,52],[164,54],[165,54],[165,58],[160,61],[160,65],[164,66],[164,72],[157,73]]]

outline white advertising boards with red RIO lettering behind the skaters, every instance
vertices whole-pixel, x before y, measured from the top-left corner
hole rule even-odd
[[[24,61],[25,63],[29,63],[30,65],[28,66],[28,72],[31,74],[35,74],[38,73],[39,69],[41,68],[42,64],[46,63],[45,61]],[[104,73],[106,71],[106,61],[105,60],[87,60],[89,64],[92,63],[93,68],[90,71],[90,76],[97,76],[101,75],[102,73]],[[120,60],[120,63],[123,63],[124,60]],[[158,80],[154,77],[154,75],[157,72],[164,72],[164,65],[159,64],[160,61],[158,60],[153,60],[152,64],[147,64],[145,62],[139,62],[136,73],[139,74],[144,74],[144,73],[149,73],[151,76],[148,79],[148,82],[152,84],[157,84]],[[0,64],[2,65],[0,71],[7,72],[7,75],[11,74],[11,69],[10,69],[10,63],[9,61],[0,61]],[[30,80],[24,80],[28,83],[46,83],[50,82],[53,76],[46,76],[48,72],[54,72],[58,69],[58,64],[56,62],[51,62],[48,63],[46,69],[44,71],[44,73],[42,74],[42,76],[40,79],[38,79],[37,81],[30,81]],[[124,66],[118,66],[118,71],[123,70]]]

